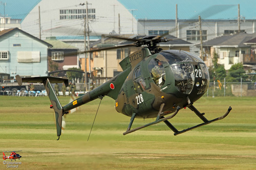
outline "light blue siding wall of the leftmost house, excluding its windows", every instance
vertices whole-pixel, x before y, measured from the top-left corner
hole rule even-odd
[[[14,30],[0,37],[0,51],[9,51],[9,60],[0,60],[0,72],[6,72],[11,76],[47,76],[47,44],[20,31],[16,37],[17,31]],[[18,51],[40,51],[40,62],[18,62]]]

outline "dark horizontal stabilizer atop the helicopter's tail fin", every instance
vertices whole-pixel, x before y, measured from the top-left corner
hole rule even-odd
[[[51,76],[43,76],[43,77],[29,77],[29,78],[21,78],[19,75],[16,75],[16,80],[18,85],[21,86],[23,82],[27,83],[44,83],[44,81],[49,80],[51,83],[65,83],[65,86],[69,86],[69,79],[62,79]]]

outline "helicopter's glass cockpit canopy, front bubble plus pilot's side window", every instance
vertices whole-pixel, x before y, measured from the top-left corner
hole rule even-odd
[[[199,89],[198,94],[202,94],[208,89],[208,69],[203,60],[196,55],[176,50],[158,53],[156,58],[148,62],[148,70],[159,87],[163,86],[165,82],[166,65],[172,69],[175,86],[180,92],[189,94],[194,85]]]

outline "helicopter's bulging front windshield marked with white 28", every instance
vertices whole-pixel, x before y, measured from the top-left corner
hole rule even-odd
[[[189,94],[194,85],[199,90],[198,94],[205,93],[209,86],[208,69],[199,57],[185,51],[163,51],[162,56],[172,68],[176,88],[185,94]]]

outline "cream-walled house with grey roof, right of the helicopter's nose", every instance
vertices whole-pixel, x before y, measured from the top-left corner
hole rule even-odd
[[[228,70],[233,64],[243,63],[246,55],[251,53],[251,47],[246,41],[256,37],[256,34],[237,33],[230,35],[222,35],[220,37],[204,41],[203,53],[204,62],[209,67],[212,65],[214,53],[217,53],[218,63],[223,64]],[[200,44],[198,44],[200,46]]]

